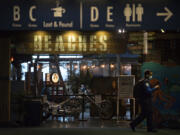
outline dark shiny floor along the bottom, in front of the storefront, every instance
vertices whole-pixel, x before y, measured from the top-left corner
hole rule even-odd
[[[98,118],[88,120],[47,120],[38,127],[0,128],[0,135],[150,135],[143,127],[132,132],[129,121],[107,120]],[[160,129],[156,135],[179,135],[180,130]]]

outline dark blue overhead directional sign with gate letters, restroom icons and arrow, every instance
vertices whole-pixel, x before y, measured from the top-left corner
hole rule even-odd
[[[179,0],[1,0],[0,30],[177,30]]]

